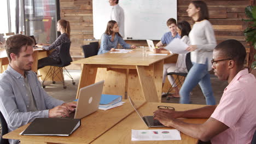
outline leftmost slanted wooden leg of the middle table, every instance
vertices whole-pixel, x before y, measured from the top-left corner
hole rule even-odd
[[[91,65],[89,64],[83,64],[82,73],[81,73],[81,77],[80,77],[78,88],[77,88],[77,99],[78,99],[80,88],[89,86],[95,83],[96,74],[97,74],[96,67],[91,67]]]

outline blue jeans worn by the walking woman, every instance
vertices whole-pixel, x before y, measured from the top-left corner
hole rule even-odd
[[[179,103],[189,104],[189,93],[193,90],[197,83],[199,83],[203,95],[205,95],[206,104],[215,105],[216,101],[213,97],[210,74],[208,73],[208,65],[199,63],[193,63],[193,67],[189,70],[189,73],[182,85],[181,91],[179,91],[179,95],[181,95]]]

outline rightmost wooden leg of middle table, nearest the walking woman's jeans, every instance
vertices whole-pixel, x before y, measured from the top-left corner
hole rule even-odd
[[[164,60],[154,64],[154,80],[156,92],[158,93],[158,102],[161,103],[162,98],[162,71],[164,69]]]

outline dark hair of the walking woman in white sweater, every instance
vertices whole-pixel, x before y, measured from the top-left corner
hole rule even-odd
[[[194,4],[197,9],[200,8],[199,18],[197,21],[209,20],[209,12],[208,12],[208,8],[207,8],[207,5],[205,2],[192,1],[191,3]]]

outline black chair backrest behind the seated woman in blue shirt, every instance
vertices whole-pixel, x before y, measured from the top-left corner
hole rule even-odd
[[[98,42],[97,42],[98,43]],[[84,57],[88,58],[98,54],[98,44],[83,45]]]

